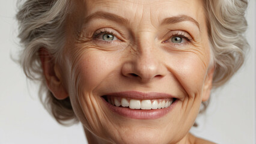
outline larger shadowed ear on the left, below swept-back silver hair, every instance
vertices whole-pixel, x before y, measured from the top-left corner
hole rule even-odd
[[[64,80],[61,77],[58,65],[55,64],[53,60],[53,56],[44,48],[41,48],[38,51],[38,54],[48,89],[52,92],[55,98],[64,100],[68,97],[68,94],[63,86],[62,82],[64,82]]]

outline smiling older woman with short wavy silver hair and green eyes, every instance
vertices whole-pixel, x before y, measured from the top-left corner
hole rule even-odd
[[[80,121],[88,143],[212,143],[189,130],[211,89],[243,64],[246,7],[26,1],[17,14],[20,64],[41,81],[56,121]]]

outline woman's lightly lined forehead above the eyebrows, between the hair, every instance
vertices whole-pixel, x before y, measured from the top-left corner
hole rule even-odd
[[[157,25],[166,17],[186,15],[204,22],[201,0],[76,0],[76,10],[83,17],[105,11],[125,17],[129,22]]]

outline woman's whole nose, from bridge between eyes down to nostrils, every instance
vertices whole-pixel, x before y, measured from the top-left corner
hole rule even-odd
[[[135,47],[136,56],[133,56],[129,64],[124,65],[123,73],[127,77],[139,79],[147,83],[150,80],[163,76],[160,64],[159,52],[154,44],[154,39],[147,32],[141,32],[137,37]]]

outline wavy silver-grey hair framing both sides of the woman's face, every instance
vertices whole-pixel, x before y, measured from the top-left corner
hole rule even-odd
[[[244,36],[247,28],[247,5],[246,0],[204,1],[215,67],[213,88],[224,85],[244,62],[249,47]],[[61,61],[66,41],[64,23],[71,10],[71,0],[27,0],[20,4],[16,15],[23,48],[19,57],[20,65],[29,79],[41,82],[41,102],[56,121],[63,125],[74,124],[78,122],[78,118],[69,98],[57,100],[47,89],[38,50],[44,47],[53,55],[53,62]]]

